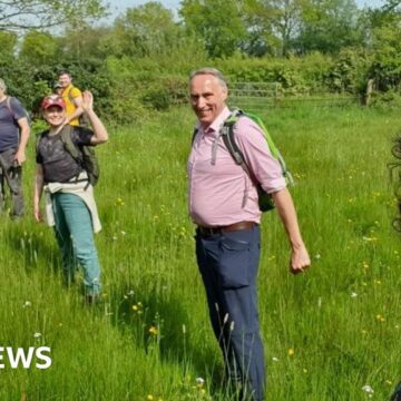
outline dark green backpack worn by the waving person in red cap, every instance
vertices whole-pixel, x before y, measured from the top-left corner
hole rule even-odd
[[[63,126],[60,133],[60,139],[63,144],[65,149],[72,156],[72,158],[78,163],[78,165],[87,172],[89,182],[88,185],[91,184],[91,186],[95,186],[99,180],[100,168],[94,146],[75,145],[71,136],[74,128],[75,127],[70,125]],[[40,139],[43,137],[43,135],[48,133],[49,131],[46,130],[45,133],[39,135],[37,141],[37,151],[39,149]]]

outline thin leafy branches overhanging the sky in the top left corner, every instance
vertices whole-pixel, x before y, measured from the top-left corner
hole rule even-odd
[[[101,0],[2,0],[0,30],[42,29],[71,21],[99,18]]]

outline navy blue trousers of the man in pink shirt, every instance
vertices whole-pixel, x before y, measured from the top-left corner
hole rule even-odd
[[[244,399],[264,400],[265,368],[257,315],[256,276],[261,232],[196,235],[196,256],[206,290],[214,334],[228,378]]]

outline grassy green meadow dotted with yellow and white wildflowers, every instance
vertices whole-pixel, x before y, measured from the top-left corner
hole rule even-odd
[[[300,107],[264,117],[296,178],[313,260],[292,276],[277,215],[263,217],[267,400],[387,400],[401,380],[401,248],[387,169],[399,111]],[[186,207],[193,123],[175,109],[111,130],[99,147],[95,307],[79,284],[62,287],[52,231],[33,222],[31,140],[27,218],[0,218],[0,346],[50,346],[52,365],[12,370],[3,354],[0,400],[228,400]]]

